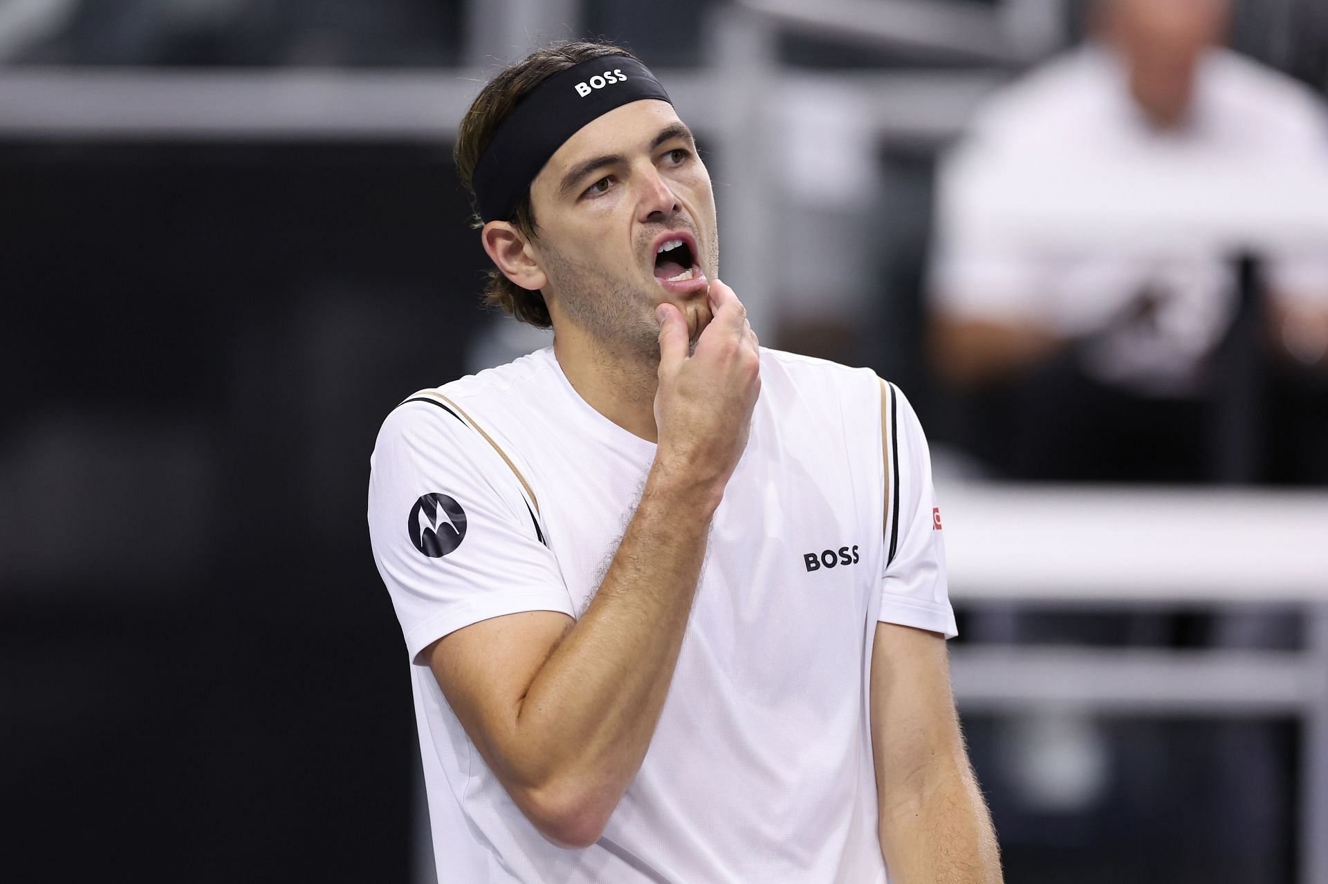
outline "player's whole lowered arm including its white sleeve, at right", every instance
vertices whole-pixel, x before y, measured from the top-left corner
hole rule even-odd
[[[997,884],[1000,851],[950,688],[955,613],[918,414],[882,382],[887,561],[871,646],[880,852],[892,884]]]

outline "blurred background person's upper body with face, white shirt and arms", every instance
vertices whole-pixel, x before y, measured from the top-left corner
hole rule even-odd
[[[1085,369],[1101,381],[1162,396],[1199,390],[1202,360],[1235,308],[1234,248],[1191,218],[1214,188],[1235,194],[1275,169],[1304,169],[1328,186],[1323,106],[1218,48],[1226,19],[1226,0],[1098,0],[1097,40],[979,114],[942,170],[931,268],[938,362],[952,380],[1017,373],[1066,340],[1092,338]],[[1003,206],[973,223],[964,215],[975,196]],[[1169,210],[1169,200],[1191,204]],[[1000,216],[1029,206],[1062,230],[1009,235],[1017,224]],[[1143,244],[1100,236],[1113,226]],[[1262,251],[1287,348],[1324,361],[1328,243]]]

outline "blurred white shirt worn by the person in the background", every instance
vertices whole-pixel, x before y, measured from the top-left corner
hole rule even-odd
[[[1240,211],[1232,203],[1242,188],[1258,192],[1260,177],[1300,170],[1315,183],[1328,177],[1328,115],[1300,84],[1214,50],[1189,122],[1158,131],[1110,50],[1085,46],[993,98],[943,163],[932,304],[952,316],[1096,337],[1086,368],[1101,380],[1193,392],[1235,308],[1238,244],[1222,242],[1223,226],[1204,230],[1206,214],[1216,214],[1208,203]],[[1005,210],[993,211],[992,200]],[[1175,200],[1193,202],[1193,211],[1177,211]],[[987,210],[980,223],[968,216],[979,206]],[[1060,220],[1040,235],[1011,235],[1029,206]],[[1293,199],[1270,207],[1279,208],[1313,211]],[[1166,235],[1122,247],[1130,231],[1121,227],[1131,224]],[[1081,236],[1066,235],[1074,226]],[[1266,246],[1259,251],[1271,259],[1276,292],[1328,299],[1328,244]],[[1145,299],[1151,309],[1141,320]]]

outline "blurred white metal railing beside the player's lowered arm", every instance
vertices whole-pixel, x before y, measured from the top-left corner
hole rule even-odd
[[[1297,611],[1299,650],[956,648],[955,694],[967,711],[1293,715],[1299,880],[1328,884],[1328,494],[956,486],[940,499],[960,607]]]

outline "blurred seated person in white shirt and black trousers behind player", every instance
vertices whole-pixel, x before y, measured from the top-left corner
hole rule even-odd
[[[963,216],[967,196],[1012,163],[1045,170],[1033,173],[1041,179],[1032,188],[1005,188],[1012,208],[1053,191],[1093,203],[1104,195],[1094,186],[1130,177],[1323,167],[1323,106],[1300,84],[1222,48],[1228,16],[1227,0],[1097,0],[1094,38],[993,98],[947,159],[931,350],[942,380],[973,406],[965,442],[997,473],[1328,480],[1328,243],[1260,255],[1278,384],[1271,396],[1260,386],[1270,426],[1251,431],[1275,447],[1247,474],[1220,475],[1212,401],[1226,377],[1214,364],[1236,315],[1232,255],[1198,238],[1159,236],[1155,248],[1129,254],[1050,238],[993,240],[969,235]],[[1187,186],[1203,192],[1206,183],[1223,182]],[[1139,186],[1105,199],[1143,223],[1186,195]],[[1078,232],[1093,242],[1093,230]]]

